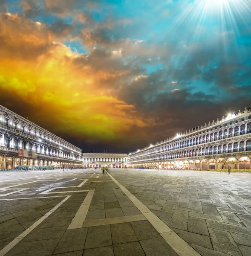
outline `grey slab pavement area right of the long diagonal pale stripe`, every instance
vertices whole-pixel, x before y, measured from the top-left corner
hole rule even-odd
[[[251,175],[111,171],[202,256],[251,256]]]

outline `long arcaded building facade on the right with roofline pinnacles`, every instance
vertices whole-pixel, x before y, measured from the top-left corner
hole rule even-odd
[[[128,154],[130,168],[251,169],[251,110],[217,119],[201,127]]]

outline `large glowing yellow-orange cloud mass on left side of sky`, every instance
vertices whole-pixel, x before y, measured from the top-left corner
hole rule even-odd
[[[104,86],[129,73],[114,52],[72,52],[48,26],[18,15],[0,15],[0,28],[0,93],[29,102],[39,125],[85,141],[122,140],[149,125]]]

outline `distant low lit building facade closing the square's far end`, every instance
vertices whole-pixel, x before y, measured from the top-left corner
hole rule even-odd
[[[83,153],[85,168],[126,168],[127,154]]]

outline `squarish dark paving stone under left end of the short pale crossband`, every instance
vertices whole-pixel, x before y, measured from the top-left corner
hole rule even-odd
[[[112,245],[112,236],[109,225],[89,227],[84,249]]]

